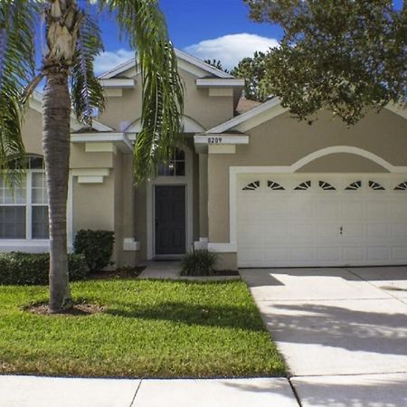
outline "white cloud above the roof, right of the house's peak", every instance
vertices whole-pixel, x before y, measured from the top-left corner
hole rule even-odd
[[[277,46],[279,42],[275,38],[237,33],[195,43],[186,47],[185,52],[202,60],[220,60],[223,68],[232,69],[241,59],[253,56],[255,51],[266,52]]]

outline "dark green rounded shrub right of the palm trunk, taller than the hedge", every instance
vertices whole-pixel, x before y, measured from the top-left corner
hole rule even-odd
[[[115,242],[114,232],[80,230],[73,242],[75,253],[83,254],[89,270],[99,271],[109,266]]]

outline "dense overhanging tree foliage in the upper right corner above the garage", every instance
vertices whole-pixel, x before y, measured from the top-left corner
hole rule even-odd
[[[243,0],[279,24],[262,86],[300,119],[327,109],[348,125],[407,96],[407,5],[391,0]]]

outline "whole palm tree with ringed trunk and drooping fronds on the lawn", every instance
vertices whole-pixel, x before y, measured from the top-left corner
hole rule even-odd
[[[49,194],[51,313],[72,307],[68,279],[66,202],[71,109],[91,126],[105,105],[93,71],[102,51],[100,31],[76,0],[1,0],[0,4],[0,169],[7,178],[23,163],[24,107],[44,79],[43,152]],[[183,86],[176,69],[166,21],[157,0],[100,0],[99,11],[113,14],[137,50],[143,92],[142,123],[134,150],[135,175],[143,179],[175,147],[181,129]],[[93,13],[95,14],[95,13]],[[34,33],[43,20],[43,62],[35,75]],[[71,81],[71,82],[70,82]],[[71,86],[70,86],[71,85]]]

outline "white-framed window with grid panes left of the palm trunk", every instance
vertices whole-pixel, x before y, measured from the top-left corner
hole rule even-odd
[[[0,175],[0,239],[48,239],[48,199],[43,158],[29,157],[20,182]]]

